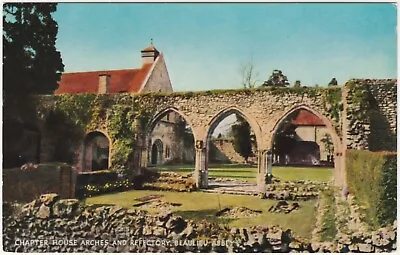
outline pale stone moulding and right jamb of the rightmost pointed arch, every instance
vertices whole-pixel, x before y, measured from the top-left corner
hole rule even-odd
[[[292,113],[298,111],[298,110],[306,110],[315,116],[317,116],[324,124],[327,129],[327,132],[332,138],[332,143],[334,147],[334,173],[333,173],[333,178],[334,178],[334,183],[337,186],[342,186],[345,183],[345,173],[344,173],[344,167],[343,167],[343,146],[342,146],[342,141],[335,131],[335,128],[332,124],[332,121],[329,120],[325,115],[321,114],[318,110],[315,110],[312,107],[309,107],[307,105],[298,105],[290,109],[289,111],[285,112],[280,116],[278,121],[275,123],[273,129],[271,130],[271,137],[269,140],[269,148],[273,148],[273,143],[275,140],[276,133],[278,131],[279,126],[283,123],[283,121]],[[267,160],[267,155],[263,156],[265,162],[269,163]],[[266,165],[265,167],[266,168]]]

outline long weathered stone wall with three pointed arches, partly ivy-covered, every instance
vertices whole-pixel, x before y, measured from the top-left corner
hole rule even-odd
[[[305,109],[319,117],[326,125],[334,145],[334,183],[344,186],[346,149],[367,149],[371,147],[367,145],[373,142],[370,135],[373,132],[368,133],[362,128],[369,125],[370,130],[373,130],[374,122],[371,121],[373,118],[359,114],[357,107],[364,107],[361,113],[371,113],[369,109],[372,106],[374,110],[372,115],[382,112],[378,117],[381,118],[381,123],[387,123],[388,127],[375,128],[379,130],[378,136],[381,136],[382,132],[394,132],[394,134],[397,132],[395,100],[397,94],[393,81],[379,80],[377,85],[365,85],[363,80],[357,82],[360,85],[347,84],[343,88],[258,88],[135,95],[74,95],[66,99],[61,96],[45,96],[38,100],[40,107],[37,114],[39,122],[44,122],[49,109],[60,105],[55,104],[56,101],[67,100],[69,108],[64,110],[66,118],[71,118],[82,134],[103,130],[105,136],[110,139],[110,166],[121,165],[124,163],[121,159],[128,161],[126,165],[130,176],[140,174],[140,169],[146,167],[148,152],[151,149],[148,141],[159,120],[171,112],[179,114],[193,132],[196,155],[193,176],[198,187],[202,188],[207,187],[208,183],[208,151],[211,134],[222,119],[232,113],[239,114],[248,121],[256,136],[257,180],[262,191],[265,190],[267,181],[266,168],[269,163],[267,153],[272,148],[275,132],[289,114]],[[369,97],[367,105],[360,100],[356,90],[360,87],[366,87],[368,88],[366,91],[370,91],[365,94]],[[362,94],[361,99],[365,95]],[[78,105],[81,109],[73,105],[77,100],[81,100]],[[44,129],[40,128],[43,126],[45,126],[43,123],[38,123],[38,129],[42,131],[41,161],[45,162],[52,160],[49,151],[51,152],[50,149],[57,145],[52,143]],[[121,126],[124,126],[124,129]],[[79,145],[74,148],[79,150]],[[117,157],[118,164],[115,163]]]

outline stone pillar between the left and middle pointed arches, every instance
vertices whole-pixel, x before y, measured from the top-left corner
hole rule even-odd
[[[196,165],[194,170],[194,180],[197,188],[208,187],[208,169],[206,165],[207,149],[204,142],[201,140],[196,141]]]

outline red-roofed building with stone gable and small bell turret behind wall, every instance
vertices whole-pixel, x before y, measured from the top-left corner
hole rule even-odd
[[[172,92],[164,56],[152,44],[136,69],[64,73],[55,94]]]

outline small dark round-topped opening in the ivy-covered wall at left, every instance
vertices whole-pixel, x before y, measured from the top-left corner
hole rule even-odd
[[[101,132],[86,135],[83,148],[83,170],[105,170],[109,166],[110,142]]]

